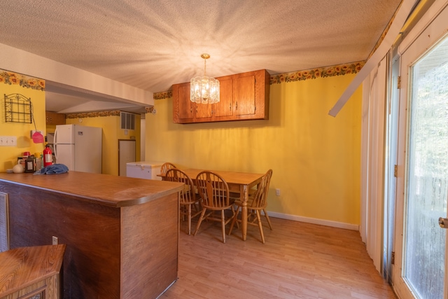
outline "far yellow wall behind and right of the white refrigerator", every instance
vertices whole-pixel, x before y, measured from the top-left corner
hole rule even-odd
[[[140,115],[136,115],[135,121],[136,130],[127,130],[127,135],[125,135],[125,130],[120,129],[120,116],[66,118],[65,123],[67,125],[102,127],[102,173],[118,175],[118,139],[131,139],[131,137],[135,137],[136,157],[140,157]]]

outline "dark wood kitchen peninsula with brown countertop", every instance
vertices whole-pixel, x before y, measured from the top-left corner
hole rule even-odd
[[[85,172],[0,173],[10,249],[53,236],[66,244],[66,299],[157,298],[176,281],[181,188]]]

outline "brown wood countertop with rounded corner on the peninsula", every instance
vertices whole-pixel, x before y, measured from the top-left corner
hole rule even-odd
[[[110,174],[69,171],[65,174],[0,173],[1,182],[16,183],[55,193],[75,195],[79,200],[110,207],[144,204],[179,192],[183,184],[169,181],[135,179]],[[1,189],[1,188],[0,188]]]

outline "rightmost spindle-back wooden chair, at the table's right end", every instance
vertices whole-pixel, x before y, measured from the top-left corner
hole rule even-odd
[[[247,202],[247,224],[251,225],[258,225],[258,228],[260,230],[261,235],[261,241],[263,244],[265,243],[265,235],[263,234],[263,227],[261,223],[261,215],[260,211],[263,211],[263,213],[266,216],[267,224],[269,224],[269,228],[272,230],[272,224],[269,219],[269,216],[267,216],[267,191],[269,190],[269,183],[271,182],[272,177],[272,169],[269,169],[266,174],[263,176],[261,182],[258,184],[258,188],[254,195],[249,195],[248,202]],[[237,205],[237,213],[235,214],[235,217],[233,218],[232,224],[230,225],[229,235],[232,233],[233,225],[235,225],[235,222],[241,222],[239,220],[238,214],[240,208],[243,206],[243,203],[240,200],[235,200],[235,204]]]

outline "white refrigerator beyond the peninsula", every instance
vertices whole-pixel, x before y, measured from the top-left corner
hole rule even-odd
[[[57,125],[54,151],[56,163],[76,172],[102,173],[102,128]]]

